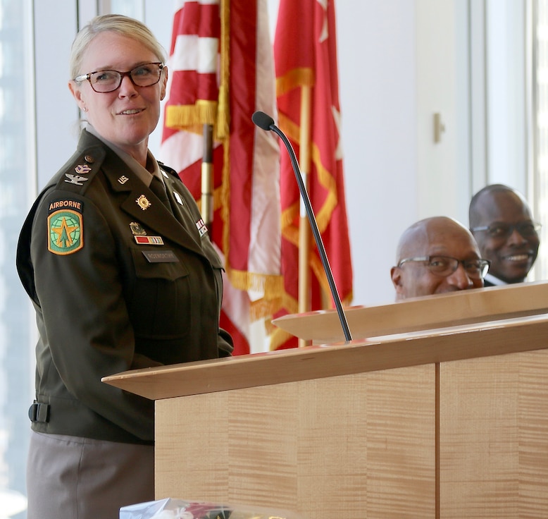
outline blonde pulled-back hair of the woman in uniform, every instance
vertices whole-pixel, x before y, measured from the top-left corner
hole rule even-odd
[[[89,43],[92,42],[94,37],[101,34],[101,32],[117,32],[119,35],[136,39],[144,47],[147,47],[149,51],[153,52],[159,61],[166,63],[166,51],[147,25],[128,16],[106,14],[96,16],[90,20],[76,35],[70,49],[70,78],[76,78],[77,75],[87,73],[86,71],[80,71],[83,56]]]

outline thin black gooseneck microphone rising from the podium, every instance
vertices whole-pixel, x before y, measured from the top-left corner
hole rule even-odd
[[[320,259],[322,261],[323,270],[325,271],[325,275],[328,276],[329,288],[331,289],[332,298],[335,301],[335,307],[337,308],[337,315],[339,316],[342,331],[344,332],[344,338],[347,341],[351,341],[352,336],[348,327],[347,317],[346,315],[344,315],[344,310],[342,310],[341,298],[339,293],[337,292],[335,280],[333,279],[333,271],[331,270],[328,261],[328,255],[325,254],[325,247],[323,246],[323,240],[320,235],[320,230],[318,229],[316,216],[314,216],[312,205],[310,203],[309,193],[307,193],[306,191],[306,187],[304,185],[301,174],[301,169],[299,168],[299,162],[297,161],[297,157],[295,156],[295,152],[293,150],[291,142],[289,142],[289,139],[287,139],[285,133],[283,133],[282,130],[280,130],[280,128],[278,128],[278,126],[274,124],[274,119],[265,114],[263,111],[256,111],[253,116],[251,116],[251,120],[256,124],[256,126],[259,126],[259,128],[267,131],[272,130],[274,133],[276,133],[287,148],[287,152],[289,153],[289,159],[291,159],[291,164],[295,173],[295,178],[297,178],[297,184],[299,185],[299,191],[301,192],[301,197],[304,202],[304,208],[306,209],[306,216],[308,216],[309,218],[312,234],[314,236],[314,240],[316,240],[316,247],[318,247],[318,252],[320,252]]]

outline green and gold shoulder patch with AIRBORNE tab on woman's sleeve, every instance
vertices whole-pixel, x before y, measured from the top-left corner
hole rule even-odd
[[[48,250],[68,255],[84,246],[83,203],[78,200],[56,200],[49,204]]]

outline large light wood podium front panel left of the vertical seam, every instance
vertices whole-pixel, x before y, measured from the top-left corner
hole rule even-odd
[[[434,383],[426,365],[158,401],[156,497],[433,518]]]

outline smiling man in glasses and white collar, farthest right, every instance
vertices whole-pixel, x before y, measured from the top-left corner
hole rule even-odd
[[[472,197],[468,218],[482,256],[491,262],[485,286],[525,281],[540,244],[540,224],[525,197],[504,184],[487,185]]]

